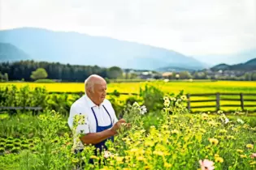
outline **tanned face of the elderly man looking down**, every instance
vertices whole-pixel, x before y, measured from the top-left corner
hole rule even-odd
[[[106,97],[106,83],[103,81],[101,83],[95,83],[93,90],[94,101],[101,104]]]

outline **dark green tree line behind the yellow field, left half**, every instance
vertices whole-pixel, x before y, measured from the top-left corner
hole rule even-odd
[[[106,79],[118,79],[123,75],[123,70],[117,66],[105,68],[100,66],[65,65],[59,62],[35,62],[33,60],[0,63],[1,78],[8,78],[8,80],[33,81],[37,79],[34,75],[41,69],[46,70],[47,79],[56,79],[62,82],[84,82],[90,74],[98,74]]]

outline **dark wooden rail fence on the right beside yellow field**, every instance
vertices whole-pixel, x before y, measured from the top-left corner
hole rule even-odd
[[[191,100],[192,96],[215,96],[213,100]],[[239,99],[232,98],[221,98],[220,96],[238,96]],[[220,107],[239,107],[241,110],[245,110],[245,107],[256,107],[256,98],[255,99],[244,99],[244,96],[256,96],[255,93],[204,93],[204,94],[187,94],[188,105],[187,108],[216,108],[216,111],[220,110]],[[240,104],[220,104],[220,101],[240,101]],[[255,102],[255,104],[245,104],[245,101]],[[205,102],[215,102],[214,105],[199,105],[191,106],[191,103],[205,103]]]

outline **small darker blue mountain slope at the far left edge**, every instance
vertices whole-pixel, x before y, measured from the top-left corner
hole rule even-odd
[[[18,49],[15,45],[0,43],[0,62],[15,62],[31,59],[27,53]]]

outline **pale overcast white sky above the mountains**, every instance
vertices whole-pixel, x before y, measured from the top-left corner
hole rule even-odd
[[[207,62],[256,49],[256,0],[0,0],[0,29],[21,27],[109,36]]]

